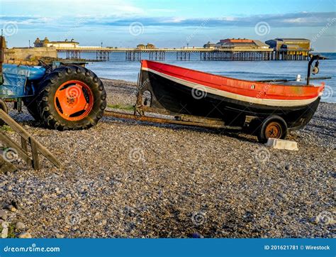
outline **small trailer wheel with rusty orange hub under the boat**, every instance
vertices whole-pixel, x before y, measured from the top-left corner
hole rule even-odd
[[[286,121],[280,116],[274,115],[262,121],[257,131],[257,137],[260,143],[266,143],[268,138],[286,138],[287,132]]]

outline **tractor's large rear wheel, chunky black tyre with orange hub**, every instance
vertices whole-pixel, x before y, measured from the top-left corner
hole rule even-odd
[[[60,131],[90,128],[101,119],[105,108],[103,83],[84,67],[59,67],[40,84],[38,111],[49,128]]]

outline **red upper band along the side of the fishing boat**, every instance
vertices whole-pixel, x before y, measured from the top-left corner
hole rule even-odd
[[[237,94],[242,97],[279,100],[281,102],[309,99],[313,101],[322,94],[325,87],[324,83],[321,83],[321,86],[315,87],[313,85],[284,85],[238,80],[149,60],[142,60],[141,69],[194,84],[190,87],[208,87],[209,89]]]

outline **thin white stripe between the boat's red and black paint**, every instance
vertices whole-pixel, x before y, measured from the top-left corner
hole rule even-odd
[[[231,92],[223,91],[220,89],[215,89],[212,87],[206,87],[203,84],[197,84],[194,82],[189,82],[187,80],[182,80],[177,77],[173,77],[170,75],[166,75],[162,72],[158,72],[156,70],[152,70],[147,67],[142,67],[142,70],[147,70],[149,72],[155,73],[156,75],[159,75],[161,77],[166,78],[167,80],[172,80],[174,82],[177,82],[178,84],[183,84],[186,87],[191,87],[197,90],[201,90],[203,92],[206,92],[207,94],[215,94],[220,97],[227,97],[230,99],[235,99],[242,102],[247,102],[250,104],[262,104],[267,106],[305,106],[312,102],[314,102],[318,97],[310,98],[310,99],[299,99],[299,100],[282,100],[282,99],[261,99],[257,97],[246,97],[241,94],[234,94]]]

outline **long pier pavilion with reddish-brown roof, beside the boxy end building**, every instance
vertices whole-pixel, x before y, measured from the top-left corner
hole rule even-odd
[[[262,41],[247,38],[221,39],[216,45],[218,45],[218,48],[225,48],[228,50],[269,49],[269,45],[262,43]]]

